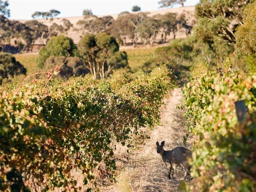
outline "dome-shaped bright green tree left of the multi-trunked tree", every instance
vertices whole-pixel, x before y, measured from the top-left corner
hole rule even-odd
[[[77,56],[77,48],[71,38],[59,35],[52,37],[46,44],[39,50],[37,64],[42,67],[47,58],[51,55],[71,57]]]

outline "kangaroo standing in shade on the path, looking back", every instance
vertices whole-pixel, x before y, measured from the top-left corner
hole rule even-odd
[[[184,180],[187,180],[187,177],[190,176],[190,168],[187,164],[187,158],[191,157],[191,151],[185,147],[176,147],[170,151],[164,150],[164,141],[159,145],[156,142],[156,152],[159,153],[163,159],[164,164],[168,169],[168,178],[175,180],[175,170],[176,166],[180,166],[184,169]]]

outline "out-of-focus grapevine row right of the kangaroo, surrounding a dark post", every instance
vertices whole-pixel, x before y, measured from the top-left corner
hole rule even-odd
[[[184,86],[184,117],[195,135],[191,175],[196,177],[187,191],[255,191],[256,186],[256,76],[224,72],[200,63]],[[235,102],[244,100],[247,116],[236,117]]]

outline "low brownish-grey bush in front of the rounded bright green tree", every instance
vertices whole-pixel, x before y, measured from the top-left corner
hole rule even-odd
[[[89,70],[84,66],[84,62],[79,57],[68,57],[66,60],[65,56],[50,56],[44,63],[45,71],[54,69],[55,66],[61,66],[59,68],[59,76],[68,79],[71,76],[84,76]],[[64,63],[65,62],[65,63]],[[64,64],[63,64],[64,63]]]

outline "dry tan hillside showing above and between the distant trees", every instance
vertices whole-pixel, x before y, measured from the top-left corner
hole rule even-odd
[[[177,12],[178,14],[181,14],[182,12],[185,12],[185,14],[187,15],[189,21],[192,21],[194,19],[194,9],[195,7],[194,6],[191,6],[191,7],[180,7],[180,8],[170,8],[170,9],[159,9],[159,10],[153,10],[153,11],[148,11],[149,12],[149,15],[148,16],[153,16],[153,15],[156,15],[156,14],[161,14],[161,15],[164,15],[165,13],[168,13],[168,12]],[[140,11],[140,12],[143,12],[143,11]],[[145,12],[145,11],[144,11]],[[139,13],[139,12],[134,12],[134,13]],[[97,15],[97,17],[104,17],[106,15]],[[113,17],[113,19],[116,19],[118,17],[118,14],[113,14],[111,15]],[[72,38],[74,43],[77,44],[78,41],[80,40],[81,38],[81,35],[83,35],[83,30],[74,30],[74,29],[79,29],[80,26],[79,25],[76,25],[76,23],[79,21],[79,20],[82,20],[84,16],[79,16],[79,17],[59,17],[59,18],[55,18],[53,20],[46,20],[46,19],[38,19],[39,22],[47,25],[47,26],[50,26],[52,25],[52,23],[56,23],[58,25],[61,24],[61,20],[62,19],[67,19],[69,20],[72,24],[73,24],[73,28],[71,28],[69,31],[67,31],[67,36]],[[20,22],[25,22],[27,20],[19,20]],[[177,38],[184,38],[185,37],[185,33],[184,31],[180,30],[178,31],[177,33]],[[158,35],[158,38],[157,39],[160,39],[161,38],[161,34]],[[169,39],[172,39],[172,35],[169,36],[167,38],[167,40]],[[37,44],[41,44],[41,42],[37,42]]]

